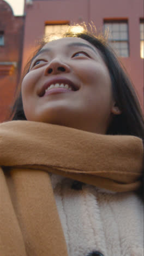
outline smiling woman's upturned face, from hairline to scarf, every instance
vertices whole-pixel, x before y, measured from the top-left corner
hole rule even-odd
[[[22,81],[27,120],[106,133],[114,101],[99,51],[81,38],[47,43]]]

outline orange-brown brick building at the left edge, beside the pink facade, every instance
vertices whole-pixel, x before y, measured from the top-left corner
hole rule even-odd
[[[7,117],[20,79],[24,17],[0,0],[0,121]]]

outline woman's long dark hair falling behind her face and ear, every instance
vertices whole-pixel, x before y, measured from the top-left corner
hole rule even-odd
[[[113,120],[107,130],[107,134],[134,135],[140,137],[142,141],[144,141],[143,115],[134,86],[131,83],[121,62],[118,60],[115,52],[109,46],[105,36],[101,36],[101,34],[99,36],[95,36],[92,32],[85,31],[77,34],[68,32],[63,37],[79,37],[87,40],[99,50],[101,57],[109,69],[113,98],[115,99],[116,104],[118,108],[121,109],[122,113],[119,115],[113,115]],[[39,53],[41,48],[43,48],[47,42],[49,42],[49,39],[41,40],[38,49],[33,54],[33,57]],[[29,66],[31,65],[33,57],[28,61],[23,73],[23,77],[29,72]],[[26,120],[22,106],[21,90],[13,105],[9,119]],[[140,190],[140,193],[142,193],[142,188]]]

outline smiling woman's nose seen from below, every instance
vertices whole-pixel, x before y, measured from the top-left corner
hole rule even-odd
[[[45,68],[45,75],[69,72],[70,67],[59,59],[52,60]]]

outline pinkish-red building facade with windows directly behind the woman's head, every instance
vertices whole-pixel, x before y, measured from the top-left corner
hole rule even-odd
[[[93,22],[109,26],[110,41],[127,69],[143,109],[143,0],[26,0],[22,66],[46,26]],[[54,28],[53,28],[54,29]],[[51,30],[51,28],[50,28]]]

